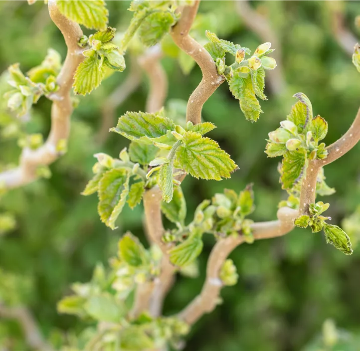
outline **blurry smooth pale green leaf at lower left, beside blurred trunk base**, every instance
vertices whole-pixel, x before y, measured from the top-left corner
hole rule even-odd
[[[108,293],[91,296],[85,304],[85,310],[97,321],[119,323],[125,315],[125,309]]]

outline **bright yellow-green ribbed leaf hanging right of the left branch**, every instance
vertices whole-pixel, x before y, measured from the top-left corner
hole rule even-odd
[[[75,94],[86,95],[96,89],[105,75],[104,66],[97,55],[87,57],[79,64],[74,75]]]

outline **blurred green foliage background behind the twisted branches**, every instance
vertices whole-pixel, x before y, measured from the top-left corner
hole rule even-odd
[[[126,10],[130,1],[106,2],[110,25],[118,31],[126,28],[131,18]],[[264,114],[256,124],[245,121],[226,84],[204,105],[203,120],[218,127],[210,137],[219,142],[240,169],[231,179],[221,182],[186,177],[183,190],[189,217],[202,199],[224,187],[239,191],[253,182],[256,211],[252,219],[274,219],[277,204],[286,198],[286,193],[278,182],[279,159],[268,159],[264,153],[265,139],[289,113],[295,103],[292,95],[304,92],[312,101],[314,113],[329,122],[327,144],[345,133],[359,108],[360,76],[351,56],[337,40],[333,20],[334,11],[339,11],[347,30],[360,37],[355,26],[355,17],[360,14],[359,1],[254,1],[251,6],[257,8],[257,13],[276,33],[287,84],[277,94],[266,91],[269,100],[262,102]],[[213,26],[208,29],[216,29],[221,38],[251,50],[267,41],[248,28],[235,11],[235,1],[203,0],[200,12],[206,14]],[[63,37],[42,1],[32,6],[25,0],[0,1],[0,23],[0,72],[15,62],[26,72],[42,61],[49,47],[65,56]],[[77,318],[56,312],[57,301],[69,293],[71,283],[88,281],[97,262],[107,264],[126,230],[145,240],[141,206],[133,211],[125,208],[119,228],[111,231],[99,220],[96,195],[80,195],[91,176],[92,155],[106,152],[117,157],[128,144],[115,134],[109,134],[103,144],[96,143],[102,107],[129,74],[131,60],[126,58],[129,67],[124,73],[114,74],[90,96],[79,99],[72,116],[69,151],[51,165],[52,177],[11,190],[0,199],[0,213],[10,212],[16,219],[12,231],[0,233],[0,302],[28,306],[47,337],[57,331],[76,332],[84,328]],[[185,75],[178,60],[165,57],[162,63],[170,86],[166,105],[174,103],[174,99],[186,101],[201,80],[199,68]],[[0,89],[4,87],[3,80]],[[117,117],[127,110],[144,110],[148,90],[143,75],[139,89],[118,107]],[[41,99],[33,107],[31,118],[16,122],[18,128],[42,133],[46,138],[50,105]],[[10,123],[13,120],[0,110],[0,170],[16,165],[20,154],[16,138],[6,128]],[[333,224],[340,224],[360,203],[359,152],[358,145],[325,169],[328,184],[337,192],[319,199],[331,203],[329,215]],[[357,223],[360,224],[357,215],[345,223],[351,229],[355,249],[351,257],[327,245],[321,233],[312,234],[308,229],[295,229],[282,238],[238,247],[230,256],[240,276],[237,285],[223,289],[222,305],[195,325],[185,350],[313,350],[312,340],[329,318],[354,336],[360,335]],[[166,300],[165,314],[176,313],[200,291],[212,245],[210,239],[205,241],[199,278],[178,278]],[[25,351],[22,341],[21,329],[15,322],[0,320],[0,350]],[[360,342],[349,349],[327,350],[360,350]]]

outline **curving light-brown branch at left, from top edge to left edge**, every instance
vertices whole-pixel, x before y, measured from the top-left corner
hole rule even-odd
[[[36,169],[41,165],[53,163],[61,154],[56,151],[61,140],[67,140],[70,132],[72,104],[70,91],[77,66],[84,59],[78,46],[83,35],[80,26],[60,13],[55,0],[48,1],[50,17],[64,36],[67,55],[57,77],[59,90],[51,107],[51,130],[43,146],[36,150],[24,148],[19,166],[0,174],[0,184],[5,188],[14,188],[27,184],[37,178]]]

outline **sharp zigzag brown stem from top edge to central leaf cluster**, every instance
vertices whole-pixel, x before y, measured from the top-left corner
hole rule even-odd
[[[217,68],[211,55],[188,34],[197,13],[200,0],[195,0],[192,6],[184,7],[179,22],[173,27],[171,35],[174,42],[182,51],[190,55],[199,65],[202,80],[190,95],[187,102],[186,122],[201,123],[201,110],[206,100],[214,93],[217,87],[225,81],[217,73]]]

